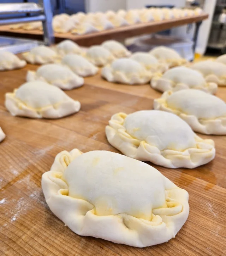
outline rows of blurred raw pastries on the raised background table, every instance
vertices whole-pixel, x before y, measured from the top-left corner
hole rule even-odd
[[[202,9],[178,9],[178,8],[143,8],[129,11],[119,10],[117,12],[107,11],[96,13],[78,12],[73,15],[61,13],[55,15],[52,21],[54,32],[88,34],[106,29],[128,26],[142,22],[171,20],[200,15]],[[41,22],[19,23],[10,26],[11,29],[42,30]]]

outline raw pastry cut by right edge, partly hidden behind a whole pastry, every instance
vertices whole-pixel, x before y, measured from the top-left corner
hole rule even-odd
[[[207,82],[226,86],[226,65],[212,60],[194,63],[191,68],[201,72]]]

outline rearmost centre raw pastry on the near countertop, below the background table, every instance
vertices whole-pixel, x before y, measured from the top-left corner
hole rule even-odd
[[[128,57],[131,52],[125,46],[115,40],[107,40],[102,43],[102,46],[110,51],[116,58]]]

